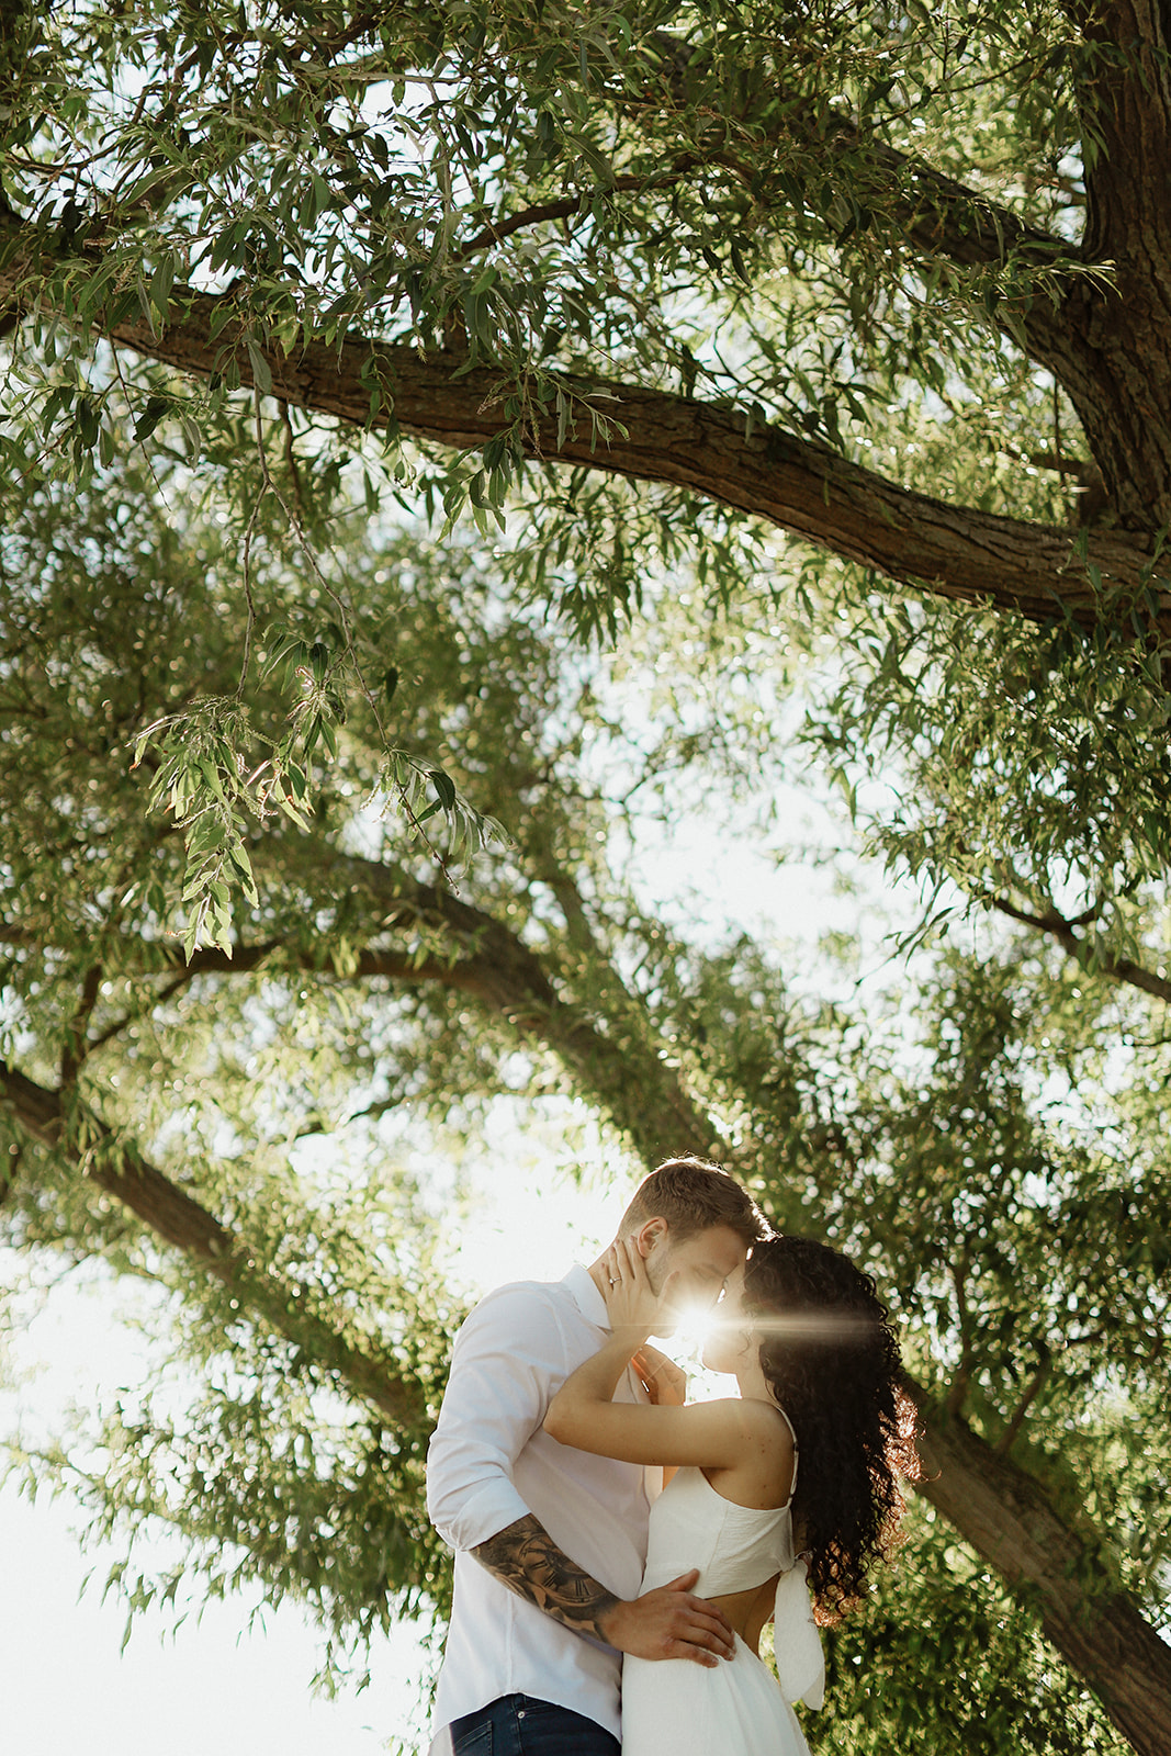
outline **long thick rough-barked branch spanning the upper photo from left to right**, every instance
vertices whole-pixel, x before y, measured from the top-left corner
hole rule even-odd
[[[14,235],[0,223],[0,256],[2,304],[18,297],[39,263],[35,234]],[[212,320],[223,316],[225,297],[181,288],[176,307],[183,314],[158,334],[140,314],[109,321],[105,334],[147,358],[211,378],[239,344],[235,321],[212,341]],[[511,425],[504,413],[504,399],[513,393],[507,378],[488,367],[456,376],[463,363],[458,356],[423,358],[414,348],[358,335],[341,346],[309,341],[297,353],[265,353],[277,400],[358,427],[370,423],[376,383],[393,400],[393,416],[379,409],[376,425],[393,418],[400,428],[453,448],[485,444]],[[235,363],[241,381],[253,388],[242,348]],[[583,406],[583,416],[571,423],[562,444],[551,420],[532,421],[525,441],[530,455],[688,488],[941,597],[988,602],[1039,622],[1096,622],[1094,592],[1067,530],[916,493],[829,446],[753,425],[736,409],[604,379],[567,379],[565,388]],[[607,441],[595,441],[585,413],[590,402],[621,421],[625,435],[611,427]],[[1143,537],[1094,530],[1083,539],[1085,562],[1106,587],[1145,583]]]

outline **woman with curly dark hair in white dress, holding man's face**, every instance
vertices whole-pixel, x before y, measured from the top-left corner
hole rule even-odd
[[[623,1240],[607,1277],[611,1340],[565,1380],[544,1428],[579,1450],[676,1466],[651,1510],[643,1589],[699,1566],[695,1593],[737,1637],[716,1670],[627,1658],[623,1756],[806,1756],[792,1702],[820,1707],[823,1689],[809,1591],[823,1623],[857,1601],[895,1538],[897,1477],[918,1473],[915,1414],[874,1282],[811,1238],[755,1245],[704,1350],[704,1364],[736,1375],[739,1398],[683,1407],[669,1389],[630,1407],[611,1396],[639,1350],[671,1384],[644,1343],[672,1285],[655,1296]],[[779,1688],[757,1656],[772,1617]]]

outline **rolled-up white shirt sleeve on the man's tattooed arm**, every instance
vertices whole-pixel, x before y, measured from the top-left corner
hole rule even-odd
[[[513,1466],[565,1378],[565,1343],[544,1287],[511,1285],[469,1315],[427,1452],[427,1510],[467,1552],[528,1514]]]

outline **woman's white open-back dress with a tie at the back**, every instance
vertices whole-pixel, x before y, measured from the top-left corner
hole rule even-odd
[[[794,1468],[794,1486],[797,1472]],[[629,1658],[621,1672],[623,1756],[808,1756],[792,1702],[820,1707],[822,1642],[806,1565],[794,1556],[790,1501],[778,1510],[737,1507],[695,1468],[679,1470],[651,1508],[643,1591],[699,1568],[692,1587],[715,1598],[762,1586],[776,1572],[778,1679],[736,1637],[718,1668],[693,1659]]]

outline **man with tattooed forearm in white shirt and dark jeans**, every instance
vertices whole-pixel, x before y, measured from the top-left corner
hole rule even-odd
[[[618,1236],[655,1291],[676,1273],[681,1306],[711,1306],[765,1231],[718,1166],[669,1159],[636,1191]],[[695,1572],[639,1596],[660,1472],[558,1445],[541,1428],[606,1338],[604,1261],[490,1292],[456,1336],[427,1459],[428,1512],[456,1551],[435,1756],[616,1756],[621,1652],[732,1656],[722,1612],[688,1589]],[[634,1370],[616,1391],[650,1394]]]

